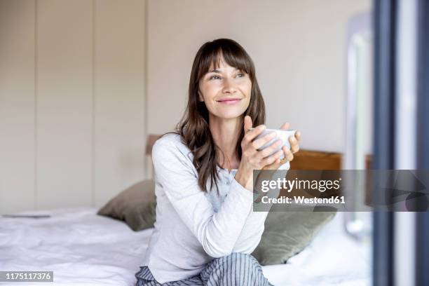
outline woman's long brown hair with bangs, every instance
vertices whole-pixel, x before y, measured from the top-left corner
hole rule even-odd
[[[265,123],[264,99],[262,98],[261,90],[259,90],[254,64],[245,49],[231,39],[217,39],[203,44],[193,60],[186,111],[182,119],[177,123],[175,132],[168,132],[179,134],[182,142],[191,150],[193,165],[198,171],[198,185],[203,191],[207,191],[206,182],[209,177],[210,186],[213,186],[214,182],[217,188],[217,180],[219,179],[217,174],[218,147],[214,143],[212,133],[210,132],[209,111],[205,107],[204,102],[198,101],[198,83],[207,74],[212,63],[214,68],[219,67],[222,56],[225,62],[231,67],[245,71],[249,75],[250,81],[252,81],[249,107],[247,107],[245,113],[241,116],[241,121],[244,121],[245,115],[249,115],[252,118],[254,126]],[[243,137],[244,130],[242,128],[236,145],[236,155],[238,158],[241,158],[242,154],[241,141]],[[218,151],[221,150],[219,149]]]

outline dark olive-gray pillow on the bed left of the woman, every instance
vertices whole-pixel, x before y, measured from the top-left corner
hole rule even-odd
[[[155,182],[147,179],[118,193],[97,214],[120,219],[133,231],[142,231],[154,226],[155,209]]]

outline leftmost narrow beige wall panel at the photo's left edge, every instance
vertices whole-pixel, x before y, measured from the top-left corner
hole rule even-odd
[[[0,1],[0,213],[32,209],[34,1]]]

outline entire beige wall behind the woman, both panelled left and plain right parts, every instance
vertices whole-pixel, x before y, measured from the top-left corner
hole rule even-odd
[[[179,121],[219,37],[253,58],[269,127],[343,151],[346,26],[370,2],[1,0],[0,213],[99,206],[150,176],[145,137]]]

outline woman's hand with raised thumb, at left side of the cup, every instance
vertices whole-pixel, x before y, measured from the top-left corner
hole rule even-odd
[[[275,132],[255,139],[265,130],[265,125],[259,125],[252,130],[250,128],[252,128],[252,118],[246,115],[244,118],[245,135],[241,141],[242,155],[236,173],[236,180],[246,189],[253,191],[253,170],[261,170],[264,166],[271,165],[275,161],[280,160],[279,158],[282,156],[283,150],[280,149],[273,154],[275,149],[282,144],[282,140],[278,139],[271,146],[259,151],[259,148],[275,137]]]

